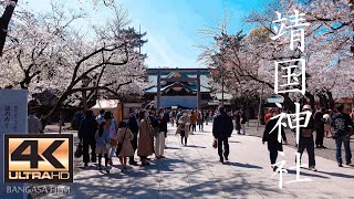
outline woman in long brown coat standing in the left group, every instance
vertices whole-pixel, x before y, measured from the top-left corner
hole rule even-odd
[[[142,111],[139,113],[140,127],[139,127],[139,139],[137,145],[137,155],[140,157],[142,166],[149,165],[146,160],[147,156],[154,154],[154,135],[153,128],[148,123],[148,113]]]

